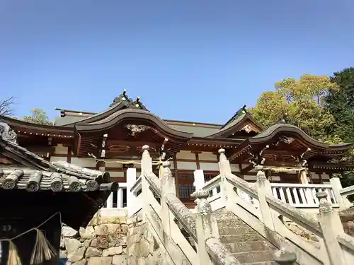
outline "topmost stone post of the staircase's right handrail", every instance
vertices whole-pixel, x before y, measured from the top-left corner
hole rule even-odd
[[[231,167],[229,160],[225,155],[225,149],[219,149],[219,171],[220,171],[220,192],[222,194],[222,199],[224,204],[228,207],[229,196],[232,195],[232,188],[227,182],[226,176],[231,174]]]

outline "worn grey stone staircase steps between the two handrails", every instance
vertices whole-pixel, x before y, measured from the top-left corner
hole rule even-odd
[[[273,253],[277,249],[234,213],[215,211],[220,242],[245,265],[275,265]]]

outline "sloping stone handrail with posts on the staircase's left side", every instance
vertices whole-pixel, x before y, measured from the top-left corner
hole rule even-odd
[[[169,245],[169,240],[179,240],[176,245],[188,252],[188,246],[185,246],[185,241],[181,239],[181,231],[174,229],[175,223],[173,217],[183,226],[190,237],[198,243],[198,261],[193,257],[195,254],[186,254],[192,265],[200,264],[224,264],[224,265],[239,265],[232,254],[219,242],[219,232],[216,229],[217,223],[213,219],[210,204],[207,202],[205,193],[198,193],[198,213],[194,214],[183,202],[176,196],[176,185],[170,170],[169,161],[162,163],[164,167],[160,170],[160,176],[157,177],[152,172],[152,158],[148,152],[149,147],[143,147],[142,155],[142,194],[144,194],[144,203],[142,211],[147,219],[151,218],[155,223],[156,231],[160,232],[160,240],[167,240],[164,244]],[[160,204],[156,205],[156,200],[152,197],[151,191],[160,197]],[[154,211],[155,217],[151,216],[151,207],[153,210],[159,208],[159,211]],[[157,216],[156,216],[157,214]],[[159,224],[159,220],[161,220]],[[151,222],[150,222],[151,223]],[[154,229],[155,229],[154,228]],[[167,251],[168,247],[166,247]],[[193,260],[197,263],[193,263]]]

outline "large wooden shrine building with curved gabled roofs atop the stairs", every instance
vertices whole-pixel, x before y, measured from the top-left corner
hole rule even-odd
[[[137,167],[120,161],[139,160],[141,148],[149,145],[154,160],[164,146],[166,158],[176,177],[177,194],[193,204],[193,171],[204,170],[208,179],[218,175],[217,151],[226,150],[232,171],[254,182],[254,165],[262,164],[271,182],[314,183],[329,181],[333,172],[351,170],[353,165],[331,163],[344,155],[352,143],[329,145],[312,139],[291,124],[279,123],[264,128],[242,107],[225,124],[181,122],[157,117],[139,97],[133,100],[126,91],[100,113],[60,111],[55,126],[30,124],[0,117],[18,134],[18,143],[43,160],[74,163],[92,170],[109,172],[111,179],[124,187],[126,168]],[[9,163],[0,160],[0,163]],[[126,189],[113,196],[125,204]],[[119,207],[119,205],[118,205]]]

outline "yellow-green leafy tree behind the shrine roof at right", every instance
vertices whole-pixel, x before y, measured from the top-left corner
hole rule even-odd
[[[305,74],[299,80],[286,78],[275,83],[275,90],[263,93],[249,111],[265,126],[286,117],[287,122],[315,139],[331,141],[329,134],[335,119],[324,108],[324,97],[330,89],[338,88],[328,76]]]

